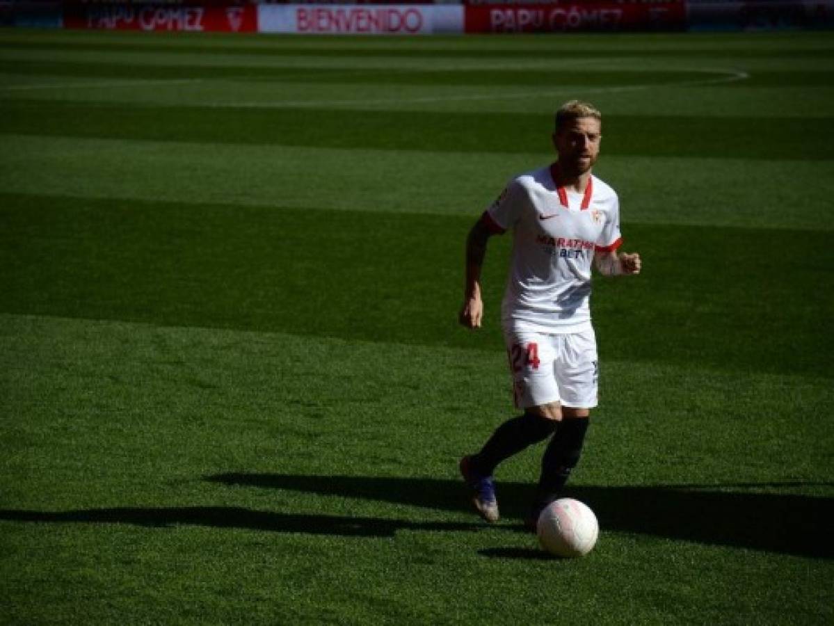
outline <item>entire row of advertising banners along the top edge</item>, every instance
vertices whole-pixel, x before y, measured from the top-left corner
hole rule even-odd
[[[289,1],[0,0],[0,25],[329,35],[834,28],[834,0]]]

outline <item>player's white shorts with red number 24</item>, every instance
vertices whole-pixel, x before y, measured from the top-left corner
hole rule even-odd
[[[596,336],[505,330],[516,408],[558,402],[572,408],[597,403]]]

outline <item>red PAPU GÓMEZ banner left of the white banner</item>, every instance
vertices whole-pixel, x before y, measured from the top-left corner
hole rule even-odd
[[[251,4],[71,4],[64,8],[63,24],[106,30],[253,33],[258,30],[258,13]]]

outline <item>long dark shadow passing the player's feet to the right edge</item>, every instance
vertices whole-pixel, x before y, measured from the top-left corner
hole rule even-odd
[[[464,488],[458,480],[277,473],[224,473],[206,479],[229,485],[363,498],[425,508],[469,508]],[[571,488],[567,495],[589,504],[603,531],[832,558],[834,548],[828,542],[828,535],[834,518],[834,498],[772,492],[775,488],[784,492],[808,484],[578,486]],[[826,485],[831,486],[831,483]],[[523,518],[531,497],[530,485],[499,485],[505,518]],[[520,528],[520,524],[515,528]]]

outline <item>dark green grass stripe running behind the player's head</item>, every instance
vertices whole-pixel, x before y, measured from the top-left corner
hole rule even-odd
[[[549,114],[7,101],[0,133],[435,152],[550,152]],[[431,132],[427,133],[426,128]],[[731,146],[731,153],[728,153]],[[605,116],[605,154],[834,158],[834,118]]]

